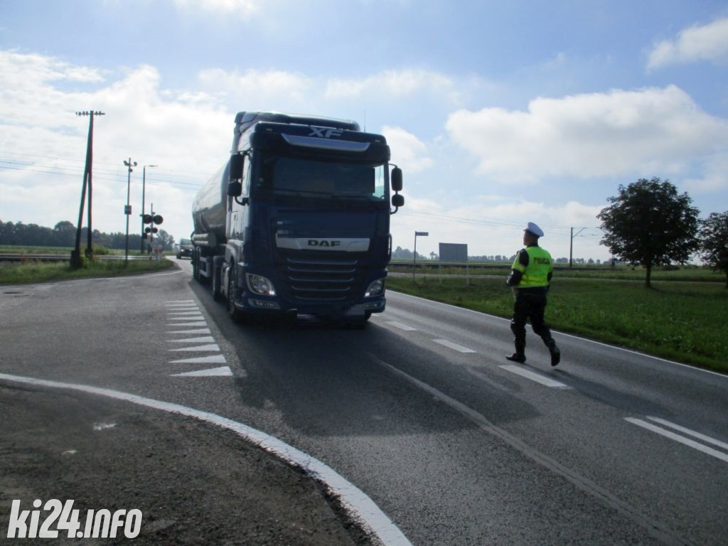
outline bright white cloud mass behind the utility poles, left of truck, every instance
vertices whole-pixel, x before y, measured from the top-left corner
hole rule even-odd
[[[224,161],[234,113],[212,95],[162,89],[151,66],[106,74],[108,81],[79,74],[98,73],[55,58],[0,52],[0,194],[6,196],[0,218],[41,226],[78,221],[89,122],[75,112],[94,109],[106,115],[94,123],[93,227],[124,232],[122,160],[131,157],[140,164],[131,177],[132,233],[141,212],[142,165],[155,164],[147,170],[146,206],[154,202],[170,234],[189,234],[194,185]],[[93,90],[64,83],[89,79]]]

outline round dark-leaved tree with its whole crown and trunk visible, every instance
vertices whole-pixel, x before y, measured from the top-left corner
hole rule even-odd
[[[620,194],[607,201],[612,205],[597,215],[605,233],[600,244],[617,258],[643,266],[646,288],[653,266],[684,264],[699,248],[699,211],[670,181],[641,178],[620,185]]]

